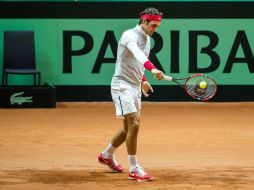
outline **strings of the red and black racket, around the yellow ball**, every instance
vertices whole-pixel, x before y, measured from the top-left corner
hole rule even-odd
[[[206,83],[205,88],[200,87],[201,82]],[[196,99],[204,100],[212,97],[216,92],[217,85],[215,82],[207,76],[192,77],[185,83],[187,93]]]

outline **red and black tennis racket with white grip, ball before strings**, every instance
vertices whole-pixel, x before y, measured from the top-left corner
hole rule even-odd
[[[205,74],[195,74],[188,78],[173,78],[165,75],[163,79],[180,85],[189,96],[197,100],[210,100],[217,92],[216,81]]]

